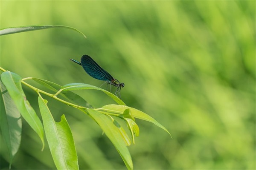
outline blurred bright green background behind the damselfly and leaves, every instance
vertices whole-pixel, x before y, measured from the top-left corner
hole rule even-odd
[[[0,66],[21,77],[100,86],[69,58],[88,54],[125,82],[122,100],[164,125],[137,121],[129,147],[135,169],[255,169],[255,1],[1,1],[0,28],[65,25],[0,37]],[[31,82],[32,83],[32,82]],[[25,88],[38,112],[37,95]],[[105,87],[103,87],[105,88]],[[113,88],[112,88],[113,89]],[[100,91],[75,91],[95,107]],[[93,120],[49,99],[65,114],[80,169],[125,169]],[[39,113],[39,112],[38,112]],[[55,169],[49,148],[23,121],[12,169]],[[8,152],[1,139],[1,169]]]

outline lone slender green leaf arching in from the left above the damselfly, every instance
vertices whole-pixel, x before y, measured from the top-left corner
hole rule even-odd
[[[81,31],[78,31],[76,28],[73,28],[73,27],[69,27],[69,26],[47,26],[47,25],[20,26],[20,27],[3,28],[3,29],[0,29],[0,35],[15,34],[15,33],[26,32],[26,31],[36,31],[36,30],[49,29],[49,28],[72,29],[74,31],[79,32],[80,34],[82,34],[85,37],[85,35]]]

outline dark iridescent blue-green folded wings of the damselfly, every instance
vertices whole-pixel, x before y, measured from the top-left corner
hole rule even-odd
[[[99,80],[109,81],[114,78],[103,68],[101,68],[90,56],[83,55],[81,57],[81,65],[91,77]]]

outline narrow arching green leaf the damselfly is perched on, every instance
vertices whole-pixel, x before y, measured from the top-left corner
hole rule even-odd
[[[103,91],[108,96],[110,96],[117,104],[125,105],[125,103],[121,99],[119,99],[117,96],[115,96],[111,92],[106,91],[102,88],[98,88],[94,85],[88,85],[88,84],[84,84],[84,83],[71,83],[71,84],[67,84],[67,85],[62,86],[61,89],[62,89],[62,91],[85,90],[85,89],[87,89],[87,90],[89,90],[89,89],[100,90],[100,91]]]

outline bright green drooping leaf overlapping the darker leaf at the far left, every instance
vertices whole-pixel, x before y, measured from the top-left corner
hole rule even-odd
[[[6,71],[1,74],[1,79],[22,117],[40,137],[43,144],[43,150],[44,128],[34,109],[26,99],[26,95],[24,94],[21,87],[21,77],[15,73]]]

